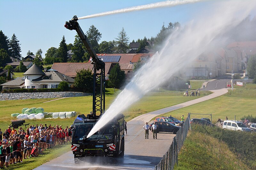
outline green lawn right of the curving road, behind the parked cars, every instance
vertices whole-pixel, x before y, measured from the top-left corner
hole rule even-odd
[[[177,119],[181,118],[181,115],[188,113],[200,113],[200,114],[212,114],[212,122],[216,123],[218,118],[240,120],[244,115],[255,115],[255,102],[256,102],[256,90],[252,89],[234,89],[228,90],[228,93],[220,97],[206,100],[201,103],[197,103],[188,107],[184,107],[172,112],[163,114],[162,116],[169,116],[170,114]],[[208,117],[208,115],[191,115],[191,118]]]

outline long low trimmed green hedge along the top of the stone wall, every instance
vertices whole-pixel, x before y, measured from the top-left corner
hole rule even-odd
[[[60,88],[52,88],[52,89],[10,89],[10,90],[2,90],[2,93],[25,93],[25,92],[61,92]]]

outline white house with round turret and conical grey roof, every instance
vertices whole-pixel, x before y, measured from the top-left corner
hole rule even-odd
[[[17,88],[57,88],[60,82],[66,81],[68,85],[74,83],[74,78],[68,77],[57,70],[47,70],[43,72],[36,64],[30,67],[22,78],[2,84],[3,89]]]

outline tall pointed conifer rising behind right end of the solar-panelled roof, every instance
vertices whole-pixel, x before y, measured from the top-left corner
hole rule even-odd
[[[127,53],[129,48],[128,42],[129,37],[127,36],[126,32],[124,31],[124,27],[119,32],[118,37],[116,38],[116,53]]]

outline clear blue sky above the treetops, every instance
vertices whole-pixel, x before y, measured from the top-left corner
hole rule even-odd
[[[28,50],[36,54],[42,49],[43,57],[51,47],[59,47],[62,36],[66,43],[73,43],[75,30],[64,27],[65,21],[100,12],[129,8],[138,5],[162,2],[163,0],[1,0],[0,30],[11,38],[13,33],[21,44],[21,55],[25,57]],[[193,1],[193,0],[191,0]],[[163,24],[179,22],[185,25],[188,21],[207,13],[208,6],[213,0],[205,0],[194,4],[185,4],[174,7],[148,9],[128,13],[114,14],[97,18],[78,20],[84,33],[94,25],[102,34],[99,41],[112,41],[117,38],[122,27],[126,31],[130,42],[151,38],[159,33]]]

